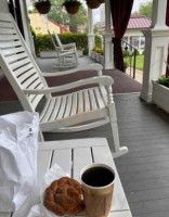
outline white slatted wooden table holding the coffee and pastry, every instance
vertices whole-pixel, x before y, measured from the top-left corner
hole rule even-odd
[[[132,217],[109,146],[104,138],[40,142],[38,152],[38,182],[41,182],[46,171],[54,164],[58,164],[72,178],[79,180],[81,168],[91,163],[107,164],[116,173],[109,217]],[[38,203],[40,203],[38,197],[31,200],[31,205]],[[23,207],[22,214],[17,216],[26,217],[30,208],[28,206]],[[11,213],[0,213],[0,217],[11,216]]]

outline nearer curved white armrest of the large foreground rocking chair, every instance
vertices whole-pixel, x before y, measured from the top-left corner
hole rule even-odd
[[[46,89],[23,89],[23,91],[25,94],[48,94],[48,93],[53,93],[53,92],[70,90],[74,88],[78,88],[80,86],[93,85],[93,84],[103,85],[105,87],[112,87],[112,85],[114,84],[114,80],[109,76],[101,76],[101,77],[92,77],[92,78],[87,78],[83,80],[78,80],[78,81],[70,82],[68,85],[62,85],[58,87],[51,87],[51,88],[46,88]]]

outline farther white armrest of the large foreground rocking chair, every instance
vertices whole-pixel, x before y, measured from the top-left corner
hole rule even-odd
[[[96,71],[98,76],[102,76],[102,69],[103,69],[103,66],[101,64],[90,64],[90,65],[87,65],[87,66],[80,66],[80,67],[77,67],[77,68],[74,68],[74,69],[64,71],[64,72],[41,73],[41,75],[43,77],[55,77],[55,76],[62,76],[62,75],[68,75],[68,74],[77,73],[79,71]]]

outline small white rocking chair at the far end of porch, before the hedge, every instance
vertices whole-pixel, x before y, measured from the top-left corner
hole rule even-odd
[[[78,56],[77,56],[77,51],[76,48],[72,48],[69,50],[65,50],[64,46],[56,46],[55,41],[53,40],[53,37],[50,33],[50,30],[48,30],[50,37],[51,37],[51,41],[53,43],[53,47],[56,51],[57,54],[57,59],[58,59],[58,64],[56,64],[57,67],[72,67],[72,66],[77,66],[78,64]],[[68,47],[66,47],[68,48]]]

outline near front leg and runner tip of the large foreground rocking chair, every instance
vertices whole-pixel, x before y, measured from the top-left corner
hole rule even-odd
[[[119,144],[119,135],[118,135],[115,104],[113,104],[113,103],[109,104],[108,110],[109,110],[109,122],[110,122],[113,141],[114,141],[114,145],[115,145],[115,149],[112,150],[112,152],[113,152],[113,156],[115,158],[115,157],[118,157],[118,156],[121,156],[121,155],[128,153],[128,148],[120,146],[120,144]]]

